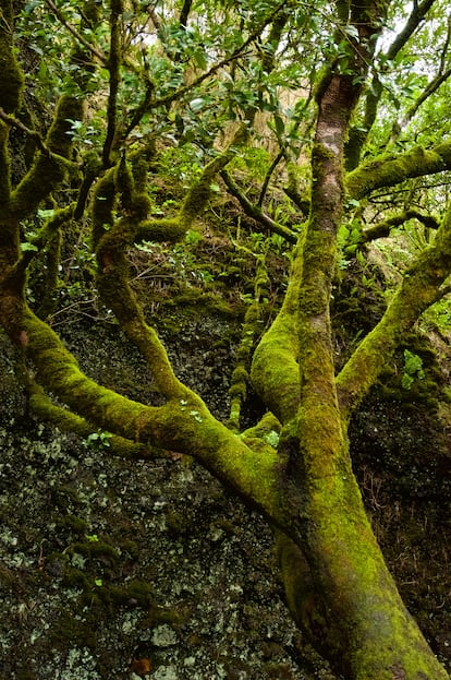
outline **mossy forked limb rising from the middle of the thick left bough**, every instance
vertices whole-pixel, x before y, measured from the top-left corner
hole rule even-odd
[[[144,239],[175,241],[183,238],[194,219],[204,211],[210,184],[234,154],[245,129],[236,132],[231,146],[215,157],[190,189],[172,219],[147,219],[150,205],[143,187],[135,179],[123,157],[99,181],[93,204],[93,240],[98,261],[97,284],[103,302],[113,310],[121,327],[148,361],[161,394],[167,398],[183,398],[185,387],[175,378],[166,349],[154,329],[145,322],[143,312],[129,283],[126,250]],[[123,217],[113,215],[120,199]],[[105,230],[105,226],[108,229]]]

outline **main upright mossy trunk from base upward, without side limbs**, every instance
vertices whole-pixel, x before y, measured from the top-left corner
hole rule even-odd
[[[282,430],[285,512],[296,548],[279,540],[295,620],[353,680],[448,678],[406,611],[367,520],[339,407],[329,318],[341,219],[343,146],[355,91],[333,75],[319,100],[312,215],[298,285],[300,406]],[[310,580],[303,587],[305,563]]]

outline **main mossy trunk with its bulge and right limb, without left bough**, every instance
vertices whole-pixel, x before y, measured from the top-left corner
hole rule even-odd
[[[363,5],[367,16],[377,16],[377,7]],[[357,25],[362,34],[365,20],[361,17]],[[355,68],[358,72],[357,63]],[[329,303],[343,210],[343,152],[359,94],[357,83],[358,79],[332,72],[321,84],[310,217],[292,271],[290,302],[285,300],[256,351],[253,378],[268,403],[285,403],[290,395],[288,408],[277,413],[283,420],[280,487],[295,545],[279,535],[278,549],[295,620],[346,678],[431,680],[448,676],[406,611],[385,564],[352,472],[346,430],[350,408],[374,383],[380,357],[393,351],[401,331],[417,318],[418,307],[431,303],[432,289],[437,293],[451,262],[446,257],[447,264],[426,290],[420,288],[422,267],[414,283],[413,272],[407,274],[398,298],[369,336],[369,347],[362,344],[341,373],[339,398]],[[393,180],[394,176],[389,183]],[[446,250],[441,249],[441,257]],[[430,265],[431,253],[426,259]],[[434,278],[434,267],[427,272],[423,270],[425,278]],[[409,287],[416,290],[416,300],[407,297]],[[425,298],[429,298],[426,303]]]

